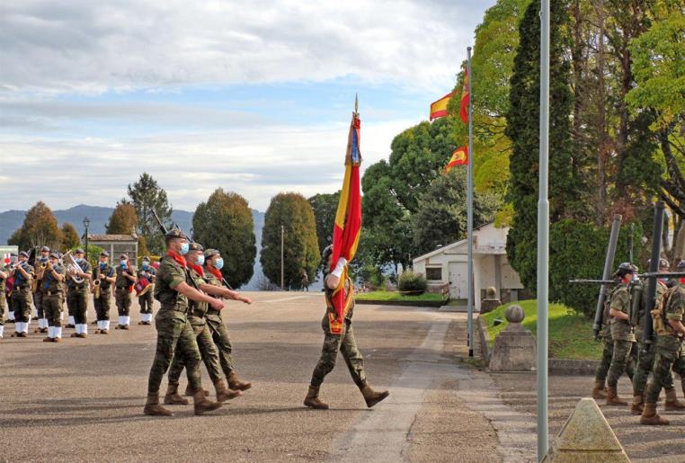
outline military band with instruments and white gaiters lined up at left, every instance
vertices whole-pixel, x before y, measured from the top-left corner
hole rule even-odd
[[[10,262],[0,262],[0,338],[4,337],[4,313],[7,322],[14,324],[12,337],[25,338],[31,328],[31,302],[36,309],[37,327],[33,333],[47,334],[46,343],[62,340],[64,303],[67,303],[68,323],[74,328],[74,338],[88,334],[87,307],[92,294],[97,325],[95,334],[110,333],[110,310],[112,287],[119,314],[116,329],[128,330],[130,325],[131,297],[139,281],[149,288],[138,295],[140,322],[151,325],[153,312],[152,291],[156,279],[155,266],[146,256],[141,267],[129,263],[127,254],[120,255],[120,262],[110,263],[110,254],[102,251],[93,269],[85,259],[85,251],[76,249],[73,260],[65,263],[65,254],[42,246],[31,265],[30,254],[22,251],[10,254]]]

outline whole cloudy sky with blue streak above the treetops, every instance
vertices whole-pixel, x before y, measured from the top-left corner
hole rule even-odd
[[[152,174],[176,209],[218,186],[265,210],[340,188],[449,92],[494,0],[0,4],[0,211],[113,206]]]

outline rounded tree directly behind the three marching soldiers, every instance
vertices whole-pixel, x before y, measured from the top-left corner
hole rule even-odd
[[[252,278],[257,247],[245,198],[218,188],[195,209],[192,231],[195,241],[221,252],[221,273],[231,286],[239,288]]]

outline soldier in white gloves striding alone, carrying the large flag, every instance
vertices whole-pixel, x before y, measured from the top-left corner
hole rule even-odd
[[[329,245],[324,249],[322,254],[322,261],[325,263],[325,270],[327,274],[324,277],[324,288],[325,288],[325,301],[326,301],[326,311],[324,319],[321,325],[324,329],[324,348],[321,352],[321,358],[316,364],[314,373],[312,374],[312,380],[309,385],[309,391],[307,392],[307,397],[305,397],[304,405],[316,408],[316,409],[327,409],[328,404],[322,402],[318,397],[319,387],[324,382],[325,376],[330,373],[335,366],[335,358],[338,356],[338,351],[342,353],[342,357],[347,363],[347,368],[350,370],[350,374],[354,383],[360,388],[361,395],[364,396],[364,401],[366,405],[370,408],[373,405],[378,404],[381,400],[385,399],[390,395],[387,391],[376,392],[369,386],[366,379],[366,373],[364,372],[364,358],[357,349],[357,342],[354,339],[354,333],[352,331],[352,311],[354,309],[354,297],[350,295],[350,292],[354,290],[351,280],[348,278],[344,282],[345,298],[350,298],[350,306],[346,308],[344,324],[342,327],[341,334],[332,334],[329,325],[329,313],[334,313],[333,296],[334,289],[338,287],[340,282],[340,277],[344,270],[344,259],[341,258],[333,270],[329,272],[328,269],[331,268],[331,259],[333,255],[333,245]]]

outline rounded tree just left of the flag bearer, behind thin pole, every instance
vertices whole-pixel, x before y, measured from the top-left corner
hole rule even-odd
[[[284,280],[286,288],[302,287],[302,272],[313,281],[321,261],[314,210],[299,193],[271,198],[264,216],[260,262],[266,277],[280,285],[280,230],[284,229]]]

